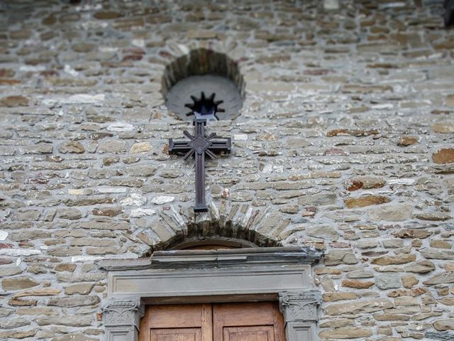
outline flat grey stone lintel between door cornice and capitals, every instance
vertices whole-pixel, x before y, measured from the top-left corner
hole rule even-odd
[[[297,291],[313,286],[306,264],[213,269],[147,269],[109,273],[109,296],[248,295]]]

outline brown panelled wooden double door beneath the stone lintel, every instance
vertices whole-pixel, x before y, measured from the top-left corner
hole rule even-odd
[[[285,341],[277,303],[151,305],[139,341]]]

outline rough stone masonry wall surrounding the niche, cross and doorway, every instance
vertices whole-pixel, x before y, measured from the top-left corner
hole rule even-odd
[[[1,1],[0,339],[101,340],[95,261],[188,235],[324,250],[320,340],[454,339],[443,1],[261,2]],[[197,48],[245,102],[194,217],[162,77]]]

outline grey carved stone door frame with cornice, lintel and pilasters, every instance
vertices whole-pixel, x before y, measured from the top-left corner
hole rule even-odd
[[[100,261],[108,271],[101,303],[106,341],[137,341],[147,304],[279,301],[287,341],[316,341],[321,293],[301,247],[156,251],[150,259]]]

